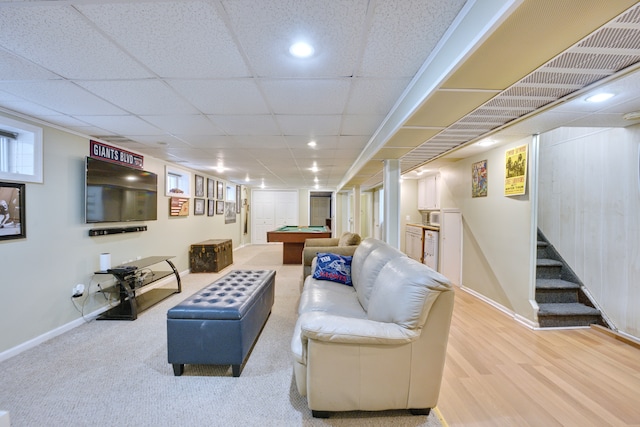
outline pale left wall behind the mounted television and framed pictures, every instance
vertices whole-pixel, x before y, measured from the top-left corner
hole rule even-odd
[[[223,215],[194,216],[193,198],[188,217],[170,218],[169,198],[164,196],[165,163],[150,157],[144,158],[144,168],[158,174],[158,220],[135,223],[147,225],[145,232],[89,237],[91,228],[132,224],[84,223],[84,164],[89,138],[41,127],[44,182],[26,185],[27,238],[0,241],[0,359],[3,352],[77,320],[80,313],[70,298],[77,283],[91,284],[85,313],[104,307],[103,296],[94,292],[96,280],[105,277],[93,274],[99,270],[102,252],[112,254],[114,265],[138,256],[175,255],[172,261],[184,272],[189,268],[191,244],[228,238],[237,247],[241,239],[246,241],[243,215],[237,215],[235,224],[225,224]]]

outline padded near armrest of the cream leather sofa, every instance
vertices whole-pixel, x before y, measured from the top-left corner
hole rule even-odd
[[[395,323],[347,318],[321,311],[300,315],[302,340],[348,344],[406,344],[420,337],[420,330],[406,329]]]

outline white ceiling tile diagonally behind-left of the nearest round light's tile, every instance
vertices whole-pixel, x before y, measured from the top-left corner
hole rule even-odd
[[[253,79],[170,80],[187,101],[205,114],[268,114]]]

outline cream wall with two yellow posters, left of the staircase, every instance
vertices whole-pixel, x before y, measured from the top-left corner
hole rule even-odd
[[[463,220],[462,284],[530,322],[535,313],[530,299],[531,201],[504,196],[505,151],[529,144],[530,138],[504,145],[440,169],[441,208],[458,208]],[[471,165],[487,160],[488,195],[471,197]],[[531,173],[528,173],[529,182]],[[530,185],[527,185],[530,188]]]

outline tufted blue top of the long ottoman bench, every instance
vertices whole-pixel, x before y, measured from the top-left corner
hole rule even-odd
[[[234,270],[171,308],[169,319],[241,319],[268,286],[273,270]]]

